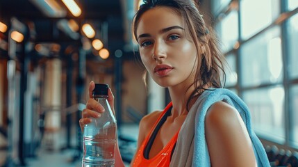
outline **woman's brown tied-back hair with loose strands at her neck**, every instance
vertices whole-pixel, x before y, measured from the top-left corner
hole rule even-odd
[[[207,28],[202,15],[199,13],[199,3],[194,0],[144,0],[144,4],[133,18],[133,35],[138,41],[137,28],[140,17],[147,10],[155,7],[168,7],[179,12],[185,24],[194,45],[197,48],[197,54],[200,61],[194,78],[195,90],[188,99],[187,109],[189,110],[190,100],[201,95],[201,90],[206,87],[222,88],[225,82],[224,56],[220,51],[219,41],[212,29]]]

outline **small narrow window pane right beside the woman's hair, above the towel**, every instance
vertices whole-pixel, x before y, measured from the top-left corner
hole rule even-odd
[[[237,84],[237,72],[236,72],[236,58],[235,54],[229,54],[226,56],[228,67],[226,67],[226,86],[235,86]]]

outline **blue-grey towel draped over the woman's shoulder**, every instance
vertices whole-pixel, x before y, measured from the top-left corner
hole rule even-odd
[[[269,167],[267,154],[262,143],[251,129],[249,109],[231,90],[216,88],[205,90],[194,103],[180,129],[171,164],[172,167],[210,166],[210,157],[205,138],[205,116],[215,102],[224,101],[234,106],[245,122],[254,146],[254,153],[259,167]]]

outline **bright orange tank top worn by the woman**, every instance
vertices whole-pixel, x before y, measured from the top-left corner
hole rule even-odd
[[[149,144],[153,143],[153,141],[151,141],[152,136],[154,136],[154,138],[155,138],[158,130],[160,129],[160,126],[163,125],[163,122],[165,121],[164,119],[167,118],[168,113],[171,113],[170,109],[172,109],[172,102],[170,102],[165,107],[165,109],[163,110],[163,113],[160,114],[158,120],[156,120],[154,127],[150,130],[150,133],[144,139],[142,145],[140,145],[138,152],[136,152],[135,160],[133,161],[133,167],[169,166],[169,162],[171,161],[171,157],[172,157],[172,150],[176,145],[179,131],[173,136],[173,138],[169,141],[169,143],[167,143],[167,145],[165,145],[163,150],[161,150],[160,152],[158,152],[158,154],[156,154],[156,156],[152,157],[151,159],[148,159],[144,156],[144,153],[148,149],[148,147],[147,147],[148,143]],[[169,111],[169,112],[167,112],[167,111]],[[161,120],[163,120],[163,121],[161,121]],[[151,148],[151,145],[149,146],[149,150],[150,150],[150,148]]]

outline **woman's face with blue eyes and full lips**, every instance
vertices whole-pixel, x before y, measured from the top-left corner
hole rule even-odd
[[[197,49],[187,31],[183,17],[171,8],[152,8],[140,17],[142,63],[160,86],[190,86],[194,81]]]

